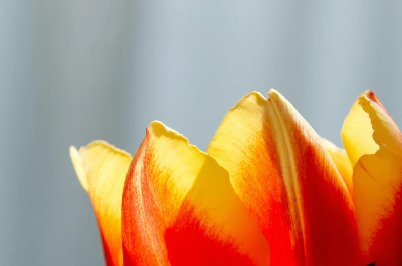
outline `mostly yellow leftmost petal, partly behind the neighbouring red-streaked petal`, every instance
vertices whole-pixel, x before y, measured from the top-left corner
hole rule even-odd
[[[106,264],[122,265],[121,198],[130,154],[104,141],[94,141],[70,157],[82,187],[88,192],[98,219]]]

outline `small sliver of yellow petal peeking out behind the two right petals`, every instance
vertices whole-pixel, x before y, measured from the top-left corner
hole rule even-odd
[[[352,181],[353,168],[352,164],[350,163],[348,154],[344,149],[337,147],[329,140],[324,138],[322,138],[322,140],[329,152],[329,155],[331,156],[333,162],[335,163],[336,168],[338,168],[338,171],[341,174],[342,179],[344,180],[345,185],[349,190],[352,200],[354,200],[353,181]]]

